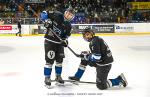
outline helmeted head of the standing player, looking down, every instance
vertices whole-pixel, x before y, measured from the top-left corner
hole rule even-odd
[[[71,21],[75,17],[74,15],[74,10],[72,7],[69,7],[65,12],[64,12],[64,17],[66,20]]]

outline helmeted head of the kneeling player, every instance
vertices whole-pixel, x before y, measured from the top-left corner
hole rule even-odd
[[[83,30],[82,35],[84,40],[90,42],[92,38],[95,36],[95,33],[91,28],[87,27]]]

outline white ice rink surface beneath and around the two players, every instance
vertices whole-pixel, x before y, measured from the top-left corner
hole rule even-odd
[[[150,97],[150,36],[101,36],[109,45],[114,63],[108,78],[124,73],[126,88],[99,90],[94,84],[44,86],[44,38],[0,37],[0,97]],[[88,50],[81,37],[71,36],[69,46],[77,53]],[[67,48],[62,77],[74,75],[80,59]],[[96,71],[87,67],[81,80],[95,81]],[[53,68],[52,79],[55,78]]]

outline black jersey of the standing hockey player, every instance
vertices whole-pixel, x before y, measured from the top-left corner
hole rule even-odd
[[[66,39],[71,35],[71,23],[64,20],[63,13],[59,11],[49,12],[48,18],[51,23],[49,28],[53,30],[61,39]],[[60,40],[51,33],[49,28],[47,28],[45,38],[53,42],[60,42]]]

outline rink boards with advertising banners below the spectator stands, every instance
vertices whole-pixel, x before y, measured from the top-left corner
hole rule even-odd
[[[115,24],[72,24],[72,33],[80,34],[90,27],[97,34],[150,34],[150,23],[115,23]],[[15,34],[17,25],[1,25],[0,34]],[[43,25],[22,25],[23,35],[41,35],[45,33]]]

